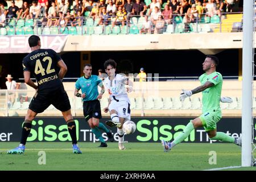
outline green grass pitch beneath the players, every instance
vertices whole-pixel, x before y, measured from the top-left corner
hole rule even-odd
[[[181,143],[170,152],[163,152],[160,143],[125,143],[126,150],[118,144],[82,143],[82,154],[73,154],[71,143],[28,142],[23,155],[10,155],[7,150],[17,142],[0,143],[0,169],[6,170],[126,170],[126,171],[187,171],[241,166],[241,148],[228,143]],[[46,152],[46,164],[39,165],[39,151]],[[215,151],[217,164],[209,164],[210,151]],[[256,167],[230,170],[255,170]]]

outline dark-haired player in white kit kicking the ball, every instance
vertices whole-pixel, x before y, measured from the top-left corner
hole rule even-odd
[[[104,86],[109,92],[109,105],[104,108],[105,113],[110,113],[111,121],[106,121],[108,126],[117,126],[119,150],[125,150],[123,146],[123,123],[131,119],[130,100],[127,92],[132,90],[133,82],[125,76],[115,73],[117,63],[109,59],[104,63],[104,68],[108,77],[104,80]],[[126,85],[129,85],[126,88]]]

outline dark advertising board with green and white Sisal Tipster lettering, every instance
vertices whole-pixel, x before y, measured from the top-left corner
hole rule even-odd
[[[20,131],[24,118],[3,117],[0,121],[0,142],[19,142]],[[82,117],[74,118],[76,122],[77,138],[79,142],[97,142],[95,135],[89,128],[88,123]],[[160,142],[161,139],[172,140],[179,135],[192,118],[160,118],[160,117],[137,117],[133,121],[137,124],[135,133],[125,135],[128,142]],[[100,119],[105,123],[108,118]],[[255,124],[254,124],[255,125]],[[118,141],[117,131],[112,128],[115,142]],[[232,137],[241,135],[241,118],[222,118],[217,124],[217,130],[229,134]],[[254,130],[255,132],[255,130]],[[102,134],[108,140],[106,133]],[[255,135],[254,135],[255,136]],[[60,117],[39,117],[32,122],[31,134],[28,142],[69,142],[71,137],[67,125]],[[203,128],[194,130],[185,139],[185,143],[212,143]]]

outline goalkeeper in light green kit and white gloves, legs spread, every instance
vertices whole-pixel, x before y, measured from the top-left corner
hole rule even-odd
[[[192,96],[192,94],[202,92],[203,114],[201,114],[200,117],[191,120],[183,132],[179,134],[174,141],[166,142],[162,140],[164,152],[170,151],[174,146],[187,138],[191,131],[202,126],[210,139],[234,143],[241,146],[241,138],[233,138],[223,132],[217,132],[216,124],[222,117],[220,102],[233,102],[232,98],[221,97],[222,75],[216,72],[217,65],[218,58],[216,56],[208,55],[203,63],[203,71],[205,73],[199,77],[201,86],[193,90],[183,90],[180,94],[180,100],[183,101],[185,98]]]

